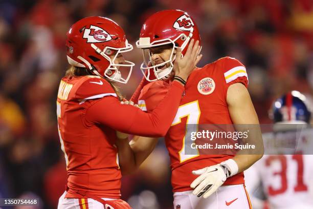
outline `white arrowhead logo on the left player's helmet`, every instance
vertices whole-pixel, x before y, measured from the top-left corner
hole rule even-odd
[[[87,43],[100,43],[112,39],[105,30],[93,25],[84,30],[83,38],[87,38]]]

